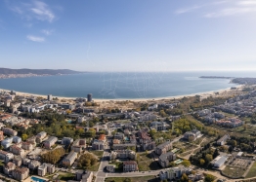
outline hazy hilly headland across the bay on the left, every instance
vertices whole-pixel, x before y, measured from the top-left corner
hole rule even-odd
[[[0,79],[19,78],[19,77],[35,77],[35,76],[52,76],[52,75],[70,75],[85,73],[73,71],[70,69],[10,69],[0,68]]]

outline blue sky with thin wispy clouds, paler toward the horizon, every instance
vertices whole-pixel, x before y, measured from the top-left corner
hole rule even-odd
[[[1,0],[0,67],[256,69],[256,0]]]

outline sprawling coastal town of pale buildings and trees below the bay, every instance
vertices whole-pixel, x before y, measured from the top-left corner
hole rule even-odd
[[[253,86],[147,101],[0,98],[3,181],[256,180]]]

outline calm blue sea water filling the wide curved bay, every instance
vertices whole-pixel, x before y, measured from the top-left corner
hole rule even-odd
[[[231,87],[228,79],[199,76],[256,77],[254,72],[93,72],[76,75],[0,79],[0,89],[64,97],[133,99],[218,91]]]

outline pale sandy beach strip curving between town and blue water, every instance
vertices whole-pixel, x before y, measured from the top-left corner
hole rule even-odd
[[[241,89],[244,85],[237,85],[235,88]],[[234,90],[234,91],[236,91]],[[4,90],[0,89],[0,91],[7,91],[10,92],[11,90]],[[106,101],[159,101],[159,100],[168,100],[168,99],[180,99],[183,97],[188,97],[188,96],[194,96],[194,95],[200,95],[202,98],[208,97],[215,95],[215,92],[219,92],[220,95],[221,93],[224,93],[226,91],[233,91],[231,88],[227,89],[222,89],[222,90],[216,90],[216,91],[204,91],[204,92],[196,92],[196,93],[190,93],[190,94],[182,94],[182,95],[175,95],[175,96],[165,96],[165,97],[154,97],[154,98],[94,98],[93,101],[95,102],[106,102]],[[29,92],[22,92],[22,91],[15,91],[17,95],[22,95],[22,96],[37,96],[37,97],[47,97],[47,94],[37,94],[37,93],[29,93]],[[53,95],[53,97],[58,97],[59,100],[74,100],[77,97],[67,97],[67,96],[58,96],[58,95]],[[84,97],[86,98],[86,97]]]

